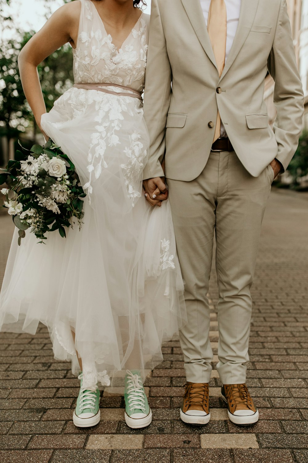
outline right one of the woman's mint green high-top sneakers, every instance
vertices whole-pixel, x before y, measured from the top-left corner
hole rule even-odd
[[[145,428],[151,424],[152,412],[145,395],[140,372],[126,371],[125,376],[125,421],[133,429]]]

